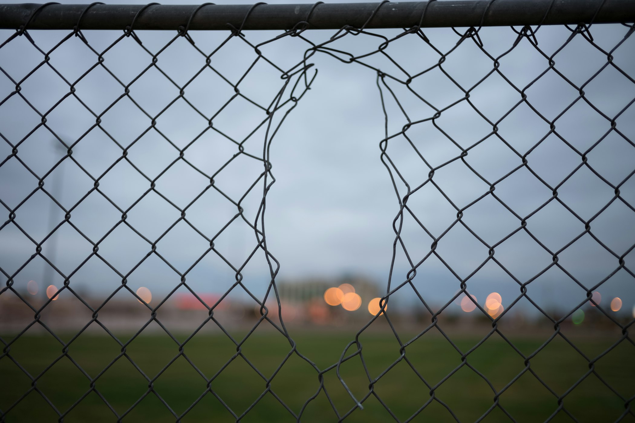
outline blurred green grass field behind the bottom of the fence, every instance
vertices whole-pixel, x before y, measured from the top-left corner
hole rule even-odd
[[[291,332],[298,349],[312,358],[320,368],[337,362],[342,349],[352,341],[350,334],[323,332]],[[3,336],[9,340],[11,336]],[[69,341],[70,337],[64,338]],[[126,339],[122,337],[121,339]],[[181,338],[183,341],[185,337]],[[531,339],[513,338],[514,345],[525,355],[531,354],[547,337]],[[399,344],[394,336],[386,333],[363,334],[364,360],[371,377],[377,377],[399,356]],[[573,338],[580,351],[589,358],[599,356],[613,342],[614,337]],[[462,351],[468,351],[476,337],[453,337]],[[269,377],[290,350],[288,341],[276,332],[251,335],[244,343],[243,354],[262,374]],[[354,351],[351,349],[351,352]],[[69,355],[90,375],[95,377],[110,361],[119,355],[120,347],[113,339],[103,335],[83,334],[72,342]],[[199,334],[185,345],[185,355],[197,365],[206,377],[218,372],[220,367],[236,352],[236,346],[224,334]],[[178,346],[167,335],[140,335],[130,343],[126,353],[150,379],[178,355]],[[635,347],[628,341],[621,342],[610,353],[600,358],[594,369],[624,398],[635,394]],[[62,346],[49,335],[25,334],[11,344],[10,355],[31,375],[40,374],[62,354]],[[460,354],[440,335],[425,335],[406,349],[406,356],[431,385],[438,384],[461,363]],[[468,356],[467,363],[485,375],[494,389],[500,390],[518,375],[525,364],[523,359],[497,334]],[[531,369],[556,393],[562,395],[589,370],[589,363],[580,353],[560,337],[556,337],[544,350],[531,359]],[[342,365],[340,374],[358,399],[368,393],[368,377],[359,357]],[[345,393],[342,384],[331,370],[324,375],[324,385],[340,415],[350,410],[354,403]],[[95,382],[100,394],[109,401],[119,415],[128,410],[146,393],[147,380],[131,365],[126,357],[106,370]],[[206,381],[197,374],[183,356],[154,381],[154,390],[177,415],[187,410],[206,389]],[[238,415],[244,412],[265,389],[265,381],[241,357],[232,361],[211,383],[212,389]],[[319,387],[317,372],[298,356],[284,364],[271,382],[281,400],[298,413],[304,402]],[[7,410],[23,393],[30,389],[29,378],[11,358],[0,359],[0,409]],[[90,380],[67,357],[62,357],[37,381],[37,389],[65,412],[90,389]],[[407,420],[429,400],[430,389],[415,375],[407,363],[401,361],[376,384],[375,392],[390,407],[399,420]],[[460,422],[474,422],[493,404],[491,387],[469,367],[460,368],[435,391],[435,396],[453,410]],[[556,396],[549,392],[529,372],[523,374],[500,396],[500,405],[517,422],[543,422],[558,409]],[[614,422],[624,413],[624,401],[599,381],[589,375],[563,401],[568,412],[579,422]],[[388,422],[391,415],[370,396],[363,403],[363,410],[355,410],[346,422]],[[2,420],[2,419],[0,419]],[[115,422],[116,416],[99,396],[91,392],[65,417],[64,422]],[[147,395],[126,414],[124,422],[174,422],[177,419],[153,393]],[[57,422],[58,415],[41,395],[32,391],[5,415],[7,423]],[[182,420],[194,422],[232,422],[231,413],[215,396],[208,393],[187,412]],[[293,416],[267,393],[248,412],[241,422],[292,422]],[[303,422],[337,421],[335,412],[320,393],[311,401],[302,415]],[[451,414],[438,401],[426,407],[412,421],[453,422]],[[495,408],[484,422],[511,422],[502,410]],[[565,412],[559,412],[552,422],[572,422]],[[632,414],[623,422],[635,422]]]

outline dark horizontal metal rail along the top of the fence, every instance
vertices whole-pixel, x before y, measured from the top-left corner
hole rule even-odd
[[[191,16],[192,30],[226,30],[228,23],[240,27],[243,20],[243,29],[286,30],[307,17],[311,29],[339,29],[345,25],[362,27],[375,10],[366,28],[408,28],[419,24],[427,2],[384,3],[378,8],[379,4],[209,4],[201,8],[176,4],[0,4],[0,28],[17,29],[29,22],[29,29],[74,29],[81,16],[81,29],[122,29],[134,20],[135,29],[174,30],[187,25]],[[591,20],[634,22],[635,1],[433,1],[427,6],[421,26],[561,25]]]

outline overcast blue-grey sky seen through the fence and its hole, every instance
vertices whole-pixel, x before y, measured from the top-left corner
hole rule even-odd
[[[64,2],[65,3],[65,2]],[[283,3],[272,1],[270,3]],[[458,29],[459,32],[463,30]],[[10,30],[0,31],[6,39]],[[305,35],[314,42],[323,42],[335,31],[312,31]],[[377,30],[387,37],[398,30]],[[607,51],[624,37],[627,28],[622,25],[594,25],[592,35],[599,46]],[[44,51],[52,48],[68,32],[30,31],[30,35]],[[103,51],[121,35],[112,31],[84,31],[90,45]],[[279,32],[247,32],[253,44],[276,36]],[[451,29],[426,29],[425,34],[440,51],[449,51],[459,37]],[[175,35],[174,32],[139,31],[144,47],[156,53]],[[227,33],[194,32],[196,46],[206,54],[218,46]],[[508,27],[484,28],[480,33],[485,49],[493,56],[511,48],[516,34]],[[538,46],[551,55],[570,36],[565,27],[543,27],[538,32]],[[371,36],[346,36],[330,45],[355,55],[376,49],[382,39]],[[631,37],[613,53],[613,62],[627,74],[635,75],[635,38]],[[301,60],[309,44],[297,38],[286,37],[262,47],[264,55],[279,68],[287,69]],[[411,75],[431,67],[439,55],[417,36],[406,36],[385,50]],[[256,55],[243,41],[232,39],[212,56],[211,65],[229,81],[236,83]],[[170,75],[177,84],[187,82],[203,67],[205,58],[184,38],[179,38],[158,56],[157,66]],[[0,48],[0,67],[15,81],[19,81],[43,60],[43,55],[33,48],[25,37],[17,37]],[[606,63],[597,49],[581,36],[554,58],[556,68],[573,84],[580,86]],[[128,84],[152,61],[134,39],[126,38],[104,55],[104,65],[121,82]],[[404,80],[407,77],[387,58],[381,55],[363,59],[383,72]],[[91,52],[77,37],[64,42],[51,53],[50,63],[60,74],[75,82],[88,68],[97,62]],[[267,195],[265,228],[267,247],[281,263],[278,280],[307,277],[341,277],[365,275],[377,281],[385,289],[391,265],[392,220],[399,211],[398,198],[391,179],[380,161],[379,142],[384,138],[384,112],[377,88],[377,74],[359,64],[345,64],[335,58],[318,53],[311,57],[318,75],[312,89],[298,102],[297,107],[283,122],[271,145],[272,172],[276,183]],[[500,60],[500,70],[519,89],[524,88],[547,68],[547,60],[540,56],[531,44],[523,39],[516,49]],[[443,68],[464,89],[471,88],[490,72],[493,62],[478,46],[465,40],[448,56]],[[412,121],[434,115],[434,109],[409,92],[403,84],[386,80],[399,98],[404,112]],[[295,79],[290,85],[295,83]],[[284,81],[271,65],[262,60],[240,84],[241,93],[267,107],[283,87]],[[300,88],[302,84],[300,84]],[[415,79],[411,88],[438,109],[447,107],[464,96],[462,91],[438,69]],[[8,77],[0,74],[0,98],[15,89]],[[77,82],[76,94],[97,114],[123,94],[123,87],[104,68],[97,67]],[[290,96],[291,86],[283,94]],[[635,98],[635,84],[615,68],[607,67],[594,81],[584,88],[585,96],[599,110],[615,117]],[[49,110],[65,93],[69,85],[46,66],[40,68],[21,84],[21,93],[40,112]],[[185,98],[196,105],[207,117],[211,117],[225,101],[231,98],[233,89],[209,68],[185,88]],[[401,131],[407,122],[404,113],[384,87],[383,94],[389,116],[388,133]],[[547,119],[555,119],[578,96],[578,91],[567,84],[555,72],[544,75],[526,90],[528,101]],[[178,88],[171,84],[156,68],[151,68],[130,87],[130,96],[155,116],[178,96]],[[485,116],[496,121],[519,100],[520,94],[497,74],[491,75],[478,88],[471,91],[470,100]],[[274,115],[277,124],[286,108]],[[213,119],[214,127],[237,141],[255,129],[266,115],[263,110],[242,98],[232,101]],[[143,114],[128,98],[123,98],[102,117],[102,127],[121,145],[128,146],[147,127],[150,118]],[[0,106],[0,133],[10,143],[18,143],[40,121],[39,116],[17,95]],[[47,115],[47,124],[67,143],[74,143],[95,122],[95,117],[73,96]],[[436,167],[457,157],[460,149],[448,140],[450,136],[458,145],[468,148],[491,132],[491,124],[479,116],[472,107],[462,101],[443,112],[436,124],[416,124],[406,134],[421,155]],[[577,101],[556,120],[556,131],[579,152],[589,147],[610,129],[610,121],[601,117],[583,100]],[[157,118],[155,130],[150,130],[130,147],[128,159],[154,179],[173,160],[178,151],[170,146],[164,136],[177,147],[183,148],[194,140],[207,126],[206,119],[183,100],[175,102]],[[616,119],[616,128],[630,140],[635,140],[635,106],[631,106]],[[93,129],[73,148],[76,158],[86,171],[98,178],[118,157],[119,148],[100,128]],[[517,107],[498,125],[498,133],[521,155],[525,154],[549,131],[549,124],[540,119],[527,105]],[[264,127],[244,144],[245,151],[262,156]],[[18,147],[18,157],[37,175],[42,176],[64,152],[55,147],[53,135],[44,127],[32,133]],[[237,152],[237,146],[221,134],[208,130],[185,152],[185,159],[211,175]],[[411,189],[427,179],[429,167],[420,159],[413,146],[403,136],[389,141],[387,152]],[[0,140],[0,157],[11,153],[11,146]],[[607,181],[618,185],[634,170],[635,147],[615,131],[588,153],[588,163]],[[581,162],[580,155],[570,146],[551,134],[528,156],[528,164],[549,185],[556,186]],[[467,163],[487,181],[494,182],[521,164],[511,148],[497,137],[491,136],[469,151]],[[237,157],[216,176],[215,184],[229,197],[238,200],[262,172],[262,162],[245,155]],[[457,207],[464,207],[483,195],[489,186],[479,179],[461,160],[435,172],[433,181],[450,197]],[[185,207],[208,185],[208,179],[194,171],[185,162],[178,161],[156,181],[156,189],[178,207]],[[45,187],[55,195],[64,207],[72,207],[93,186],[91,179],[76,166],[65,160],[45,181]],[[37,179],[30,175],[16,159],[0,166],[0,199],[13,209],[37,187]],[[149,188],[149,181],[125,161],[120,162],[100,179],[100,190],[121,209],[130,207]],[[398,181],[401,196],[406,193]],[[558,188],[558,197],[582,219],[594,216],[612,200],[614,192],[608,184],[582,167],[565,184]],[[496,185],[495,193],[519,216],[527,216],[551,197],[551,190],[526,169],[509,176]],[[245,214],[250,221],[255,218],[262,181],[244,200]],[[620,187],[620,195],[626,202],[635,204],[635,179]],[[438,237],[456,218],[456,210],[431,183],[420,188],[408,200],[408,205],[425,227]],[[9,211],[2,207],[4,216]],[[51,201],[42,192],[36,193],[16,211],[16,221],[37,242],[50,230],[51,210],[53,221],[59,223],[64,214],[51,207]],[[236,213],[236,207],[213,188],[208,190],[187,210],[187,218],[206,236],[213,237]],[[170,227],[180,212],[163,198],[150,192],[128,212],[128,223],[150,240],[155,240]],[[72,212],[70,221],[97,242],[121,218],[121,212],[97,192],[92,193]],[[505,209],[495,198],[488,196],[464,212],[463,221],[488,244],[495,244],[519,227],[518,218]],[[234,223],[218,237],[215,246],[231,263],[240,265],[255,247],[253,230],[239,222]],[[528,219],[527,228],[552,251],[561,249],[584,231],[584,223],[576,219],[565,207],[552,201],[542,211]],[[635,212],[619,199],[615,200],[591,223],[591,230],[607,247],[622,255],[635,242]],[[53,253],[60,270],[70,273],[92,251],[86,242],[69,225],[58,230],[56,237],[43,247],[47,257]],[[406,216],[403,240],[411,259],[417,263],[429,251],[432,238],[420,228],[414,219]],[[206,251],[208,242],[184,222],[175,226],[157,244],[162,254],[177,270],[184,272]],[[13,275],[34,252],[34,245],[14,225],[0,231],[0,267]],[[120,225],[99,247],[99,253],[112,266],[125,274],[149,251],[147,242],[124,225]],[[439,241],[436,249],[459,277],[465,278],[478,268],[488,256],[488,248],[481,244],[462,226],[457,225]],[[495,257],[518,280],[526,282],[551,263],[551,255],[520,231],[495,249]],[[634,267],[635,252],[625,257],[625,264]],[[611,256],[589,235],[585,235],[559,254],[559,263],[581,283],[591,287],[609,275],[618,266]],[[403,252],[396,257],[393,286],[403,282],[410,269]],[[257,296],[267,287],[268,269],[262,252],[244,269],[245,283]],[[29,280],[42,280],[43,261],[36,259],[15,277],[17,287],[24,287]],[[60,286],[62,278],[51,276]],[[6,280],[6,278],[5,278]],[[158,257],[152,255],[129,277],[134,289],[147,286],[154,292],[167,293],[179,277]],[[97,257],[93,257],[77,271],[72,286],[104,295],[114,290],[121,277]],[[201,292],[224,292],[234,281],[233,272],[222,260],[210,252],[187,275],[187,282]],[[635,303],[633,278],[620,270],[599,289],[603,298],[622,297],[624,308]],[[459,282],[434,256],[429,257],[417,271],[415,284],[432,303],[448,301],[457,291]],[[514,282],[495,263],[489,262],[468,282],[468,289],[478,297],[479,303],[496,290],[503,296],[503,304],[509,304],[519,294]],[[406,287],[407,288],[407,287]],[[544,306],[556,303],[572,308],[585,297],[585,291],[577,287],[563,271],[552,268],[531,282],[529,294]],[[401,297],[411,297],[404,291]],[[608,306],[608,302],[603,303]],[[525,304],[526,306],[527,304]],[[522,304],[519,304],[522,306]]]

